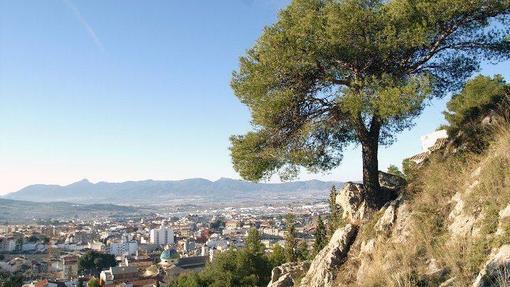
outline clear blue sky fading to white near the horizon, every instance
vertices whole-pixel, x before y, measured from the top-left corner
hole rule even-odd
[[[0,194],[34,183],[239,178],[228,137],[250,129],[229,86],[286,0],[0,0]],[[484,66],[510,78],[510,64]],[[420,150],[446,99],[380,151]],[[328,174],[359,180],[358,148]]]

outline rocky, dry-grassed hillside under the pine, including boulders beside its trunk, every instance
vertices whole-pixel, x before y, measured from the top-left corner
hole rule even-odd
[[[430,155],[407,185],[380,181],[394,192],[384,207],[367,210],[363,186],[347,183],[347,224],[306,273],[301,264],[269,286],[510,286],[509,129],[482,154]]]

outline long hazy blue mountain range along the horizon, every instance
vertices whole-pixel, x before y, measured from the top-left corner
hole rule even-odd
[[[70,185],[30,185],[4,196],[6,199],[34,202],[65,201],[75,203],[166,204],[200,203],[263,199],[293,199],[323,194],[341,182],[320,180],[287,183],[253,183],[221,178],[173,181],[126,181],[91,183],[84,179]]]

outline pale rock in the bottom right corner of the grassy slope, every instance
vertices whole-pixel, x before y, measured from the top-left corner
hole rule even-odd
[[[510,244],[492,252],[476,277],[474,287],[508,286],[510,284]]]

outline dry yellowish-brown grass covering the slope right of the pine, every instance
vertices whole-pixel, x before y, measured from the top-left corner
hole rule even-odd
[[[483,154],[436,156],[419,171],[407,191],[412,210],[409,244],[379,238],[370,270],[359,286],[438,286],[445,278],[427,275],[431,258],[447,278],[455,277],[455,286],[470,286],[490,251],[510,243],[510,220],[500,222],[498,214],[510,204],[510,126],[500,126],[496,134]],[[480,174],[472,175],[477,167]],[[476,179],[479,184],[467,193]],[[478,215],[478,236],[453,238],[448,232],[451,198],[457,192],[463,193],[465,210]],[[374,238],[376,221],[362,227],[357,240]],[[501,235],[496,235],[498,227]],[[494,286],[508,286],[508,275],[495,278]]]

